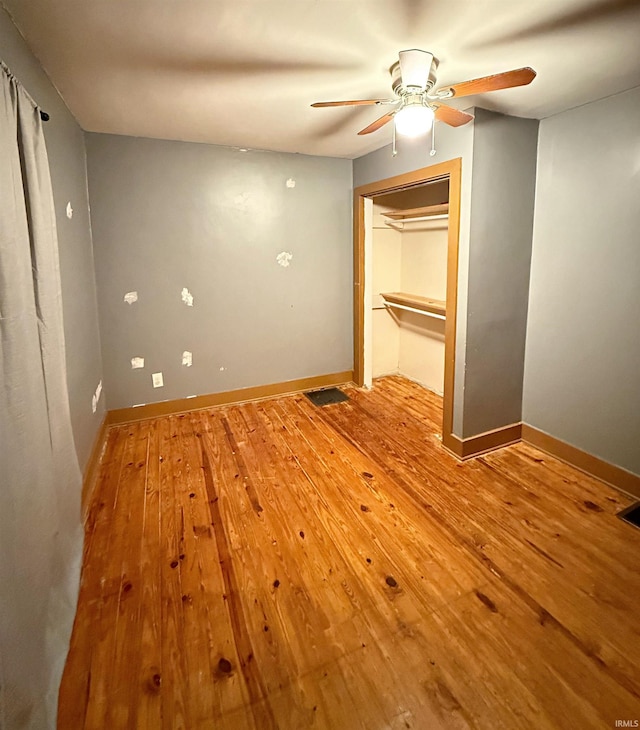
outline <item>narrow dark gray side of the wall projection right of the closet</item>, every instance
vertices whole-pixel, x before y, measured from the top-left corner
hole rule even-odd
[[[538,122],[476,109],[463,436],[519,423]]]

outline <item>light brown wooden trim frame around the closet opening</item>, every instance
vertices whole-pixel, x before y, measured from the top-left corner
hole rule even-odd
[[[353,191],[353,377],[364,385],[364,200],[383,193],[415,188],[436,180],[449,180],[449,231],[447,245],[447,308],[444,331],[444,403],[442,443],[455,450],[453,435],[453,386],[456,361],[456,315],[458,310],[458,246],[462,159],[441,162],[420,170],[361,185]]]

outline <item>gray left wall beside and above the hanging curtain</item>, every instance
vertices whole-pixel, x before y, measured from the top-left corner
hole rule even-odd
[[[60,249],[69,405],[78,461],[84,468],[105,409],[104,399],[95,414],[91,409],[102,365],[83,132],[2,8],[0,57],[51,115],[44,129]],[[67,202],[73,207],[71,220],[65,212]]]

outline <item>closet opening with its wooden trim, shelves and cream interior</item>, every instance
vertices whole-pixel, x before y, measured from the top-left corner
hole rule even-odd
[[[354,191],[354,379],[442,395],[452,450],[461,160]]]

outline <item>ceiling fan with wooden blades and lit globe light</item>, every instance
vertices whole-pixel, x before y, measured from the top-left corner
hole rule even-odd
[[[390,69],[391,88],[396,95],[395,99],[319,101],[311,106],[389,105],[393,107],[390,111],[361,129],[358,134],[371,134],[393,119],[394,132],[407,137],[415,137],[423,132],[428,132],[433,125],[434,118],[452,127],[460,127],[473,119],[473,115],[443,104],[442,102],[447,99],[510,89],[515,86],[526,86],[536,77],[536,72],[532,68],[524,67],[471,81],[463,81],[452,86],[443,86],[432,92],[436,83],[438,59],[432,53],[418,49],[400,51],[398,55],[399,60]]]

